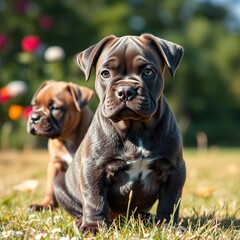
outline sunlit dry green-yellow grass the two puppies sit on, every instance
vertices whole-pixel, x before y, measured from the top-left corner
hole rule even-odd
[[[181,224],[156,226],[129,216],[97,236],[82,235],[63,210],[30,213],[28,205],[44,192],[46,151],[0,152],[0,239],[240,239],[240,150],[184,151],[187,181]],[[35,189],[19,189],[27,179]],[[154,212],[154,208],[152,209]]]

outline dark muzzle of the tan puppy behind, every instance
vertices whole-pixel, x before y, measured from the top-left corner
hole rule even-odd
[[[61,135],[61,130],[58,124],[50,119],[41,117],[38,121],[33,120],[31,117],[28,120],[28,132],[47,138],[57,138]]]

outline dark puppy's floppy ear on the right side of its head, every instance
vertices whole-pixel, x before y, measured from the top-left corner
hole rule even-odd
[[[150,41],[150,44],[153,44],[158,48],[160,54],[162,55],[165,63],[170,70],[171,75],[174,76],[183,57],[183,47],[179,46],[176,43],[155,37],[151,34],[143,34],[142,37],[148,39]]]

